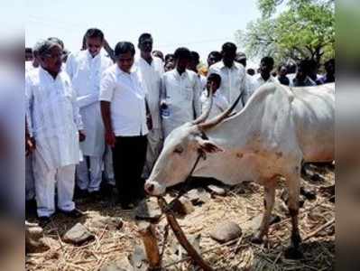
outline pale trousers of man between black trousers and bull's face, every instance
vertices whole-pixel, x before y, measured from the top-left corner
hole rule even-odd
[[[162,137],[161,128],[154,128],[149,131],[149,134],[147,135],[148,145],[146,151],[146,162],[143,167],[143,178],[145,179],[149,178],[152,173],[152,167],[162,152]]]

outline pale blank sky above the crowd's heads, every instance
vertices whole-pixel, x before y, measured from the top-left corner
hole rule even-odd
[[[166,54],[185,46],[206,61],[208,52],[219,51],[224,42],[235,42],[235,32],[260,17],[256,2],[27,0],[25,45],[32,47],[40,39],[56,36],[69,51],[78,51],[86,30],[97,27],[113,48],[121,41],[136,46],[139,35],[148,32],[154,50]]]

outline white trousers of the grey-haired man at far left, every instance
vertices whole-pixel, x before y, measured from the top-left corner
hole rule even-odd
[[[74,210],[75,203],[72,199],[75,186],[75,164],[49,169],[40,155],[34,158],[33,174],[38,216],[50,217],[55,212],[55,184],[58,189],[58,208],[64,211]]]

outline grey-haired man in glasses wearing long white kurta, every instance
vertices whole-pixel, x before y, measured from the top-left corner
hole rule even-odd
[[[49,220],[58,208],[71,217],[80,216],[72,201],[75,165],[79,162],[79,137],[83,125],[69,76],[60,70],[62,49],[51,41],[40,42],[41,67],[25,80],[26,115],[36,149],[33,172],[38,216]],[[80,136],[81,135],[81,136]]]

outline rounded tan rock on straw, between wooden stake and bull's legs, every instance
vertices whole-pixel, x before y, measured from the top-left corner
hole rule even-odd
[[[222,222],[210,232],[210,237],[220,243],[225,243],[242,235],[241,228],[232,221]]]

